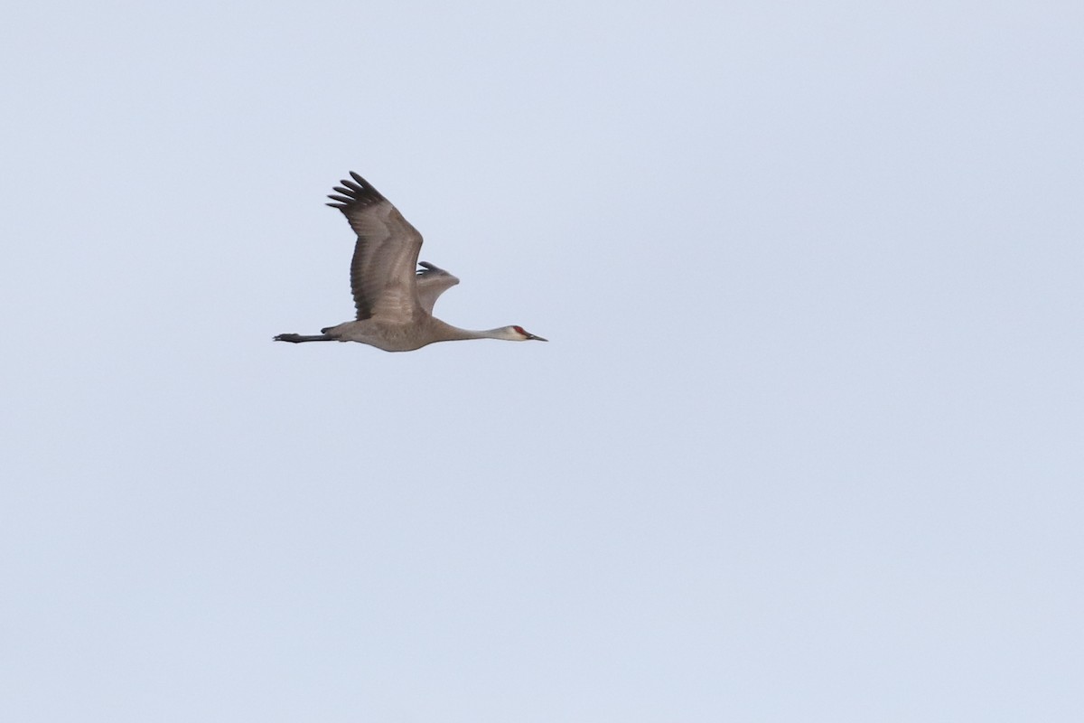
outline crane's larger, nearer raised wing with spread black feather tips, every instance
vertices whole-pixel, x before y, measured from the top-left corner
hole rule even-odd
[[[358,319],[409,322],[422,309],[414,267],[422,234],[387,198],[353,171],[327,196],[358,234],[350,261],[350,289]]]

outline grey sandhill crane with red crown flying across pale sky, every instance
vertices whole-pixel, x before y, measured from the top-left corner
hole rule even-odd
[[[506,339],[527,341],[541,336],[522,326],[501,326],[472,332],[446,324],[433,315],[437,297],[460,280],[431,263],[418,263],[422,234],[387,198],[362,177],[343,180],[336,194],[327,196],[358,234],[350,261],[350,288],[358,317],[320,334],[280,334],[275,341],[360,341],[385,351],[412,351],[434,341],[457,339]],[[341,194],[341,195],[339,195]],[[422,271],[415,271],[421,266]]]

